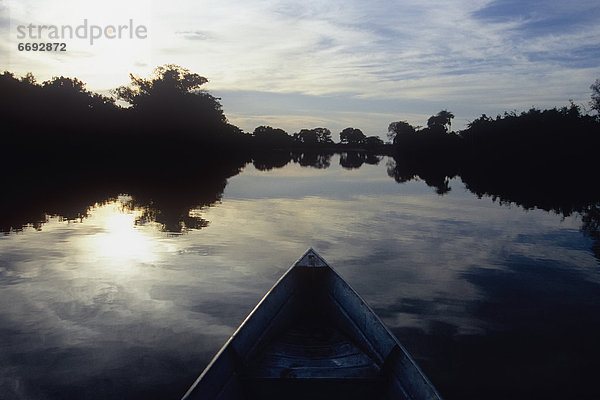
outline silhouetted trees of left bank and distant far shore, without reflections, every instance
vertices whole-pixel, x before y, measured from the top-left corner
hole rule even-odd
[[[177,65],[157,67],[149,78],[130,74],[130,83],[111,91],[111,96],[93,93],[77,78],[53,77],[37,82],[33,74],[18,78],[0,75],[0,115],[7,136],[27,136],[28,146],[40,143],[72,147],[88,146],[97,151],[107,143],[157,148],[168,143],[235,150],[274,149],[334,145],[327,128],[302,129],[292,135],[282,129],[259,126],[246,133],[230,124],[220,99],[203,90],[208,80]],[[49,138],[52,137],[52,140]],[[340,132],[345,145],[382,146],[355,128]],[[50,143],[48,143],[50,142]],[[172,146],[171,146],[172,147]]]

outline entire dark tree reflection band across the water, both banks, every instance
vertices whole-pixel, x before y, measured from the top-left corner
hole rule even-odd
[[[49,216],[81,220],[91,207],[114,201],[120,194],[131,196],[126,206],[138,212],[136,224],[158,223],[163,231],[171,233],[202,229],[209,221],[198,210],[221,201],[227,179],[240,173],[248,162],[259,171],[282,168],[290,162],[325,169],[331,166],[333,155],[318,151],[257,152],[249,158],[210,157],[197,166],[186,162],[176,168],[130,169],[129,174],[120,169],[82,173],[79,169],[49,168],[43,175],[25,170],[3,178],[5,193],[10,195],[1,200],[0,229],[41,229]],[[364,164],[378,164],[382,158],[374,153],[346,151],[340,153],[339,163],[344,169],[357,169]],[[400,156],[388,158],[386,167],[388,176],[396,182],[421,180],[439,195],[450,192],[450,180],[459,176],[473,194],[491,197],[500,204],[537,208],[565,217],[579,214],[581,230],[593,240],[593,251],[600,259],[600,189],[583,178],[542,179],[531,176],[531,171],[458,169],[440,159]]]

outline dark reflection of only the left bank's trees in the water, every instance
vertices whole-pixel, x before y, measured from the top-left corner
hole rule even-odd
[[[162,230],[172,233],[201,229],[209,222],[199,210],[219,202],[227,178],[237,175],[245,164],[243,159],[224,158],[174,175],[172,169],[160,171],[159,166],[131,173],[119,171],[117,175],[102,170],[74,185],[65,185],[64,181],[51,185],[45,175],[38,175],[39,171],[16,174],[3,185],[10,196],[0,199],[0,230],[19,232],[24,226],[42,229],[53,216],[82,220],[95,205],[114,202],[120,194],[131,196],[126,206],[135,210],[137,224],[158,223]],[[50,175],[56,173],[68,179],[69,172],[64,176],[62,172],[49,170]]]

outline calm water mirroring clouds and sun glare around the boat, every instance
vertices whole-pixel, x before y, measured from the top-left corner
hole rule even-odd
[[[136,223],[124,194],[0,236],[0,398],[177,399],[308,247],[447,399],[600,398],[600,271],[578,215],[337,160],[249,165],[183,234]]]

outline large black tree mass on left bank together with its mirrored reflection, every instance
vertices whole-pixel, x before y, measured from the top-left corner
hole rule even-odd
[[[205,80],[175,66],[119,88],[132,107],[91,93],[76,78],[38,84],[0,75],[1,138],[11,173],[0,177],[0,229],[41,226],[49,216],[79,219],[120,193],[138,221],[171,232],[201,228],[192,208],[220,199],[226,178],[249,161],[247,135],[227,124],[217,99],[194,92]]]

